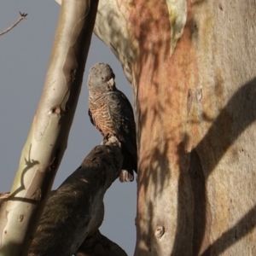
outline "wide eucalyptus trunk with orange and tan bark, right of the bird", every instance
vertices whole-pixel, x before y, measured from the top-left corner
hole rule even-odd
[[[137,108],[135,255],[256,254],[256,3],[101,0]]]

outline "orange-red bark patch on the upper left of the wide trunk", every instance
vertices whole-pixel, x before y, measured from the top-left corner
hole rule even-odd
[[[134,40],[139,44],[136,67],[140,68],[135,70],[135,76],[138,84],[138,129],[143,131],[138,132],[142,134],[138,138],[142,170],[148,167],[148,160],[143,155],[148,156],[146,152],[154,152],[152,147],[161,148],[160,145],[165,143],[172,144],[172,147],[167,147],[166,156],[171,154],[178,169],[177,145],[187,132],[188,91],[198,83],[196,51],[191,40],[195,32],[194,24],[191,28],[191,6],[188,3],[187,24],[172,56],[172,28],[168,15],[166,4],[157,0],[137,1],[131,9]],[[191,108],[191,102],[189,105]]]

